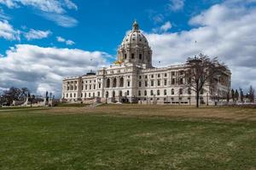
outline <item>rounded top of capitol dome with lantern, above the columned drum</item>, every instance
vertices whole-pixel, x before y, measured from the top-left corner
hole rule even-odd
[[[125,36],[123,39],[123,42],[121,43],[121,46],[140,46],[140,47],[149,47],[148,46],[148,40],[143,35],[143,33],[139,30],[139,26],[137,24],[137,21],[134,22],[132,26],[132,30]]]

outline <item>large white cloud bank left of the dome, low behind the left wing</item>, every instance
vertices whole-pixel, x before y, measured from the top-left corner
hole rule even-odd
[[[42,48],[20,44],[0,58],[0,88],[27,87],[33,93],[61,94],[63,77],[83,75],[108,65],[110,55],[68,48]]]

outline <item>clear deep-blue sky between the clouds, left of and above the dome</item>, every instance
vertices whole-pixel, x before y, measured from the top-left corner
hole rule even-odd
[[[188,20],[201,10],[209,8],[218,1],[189,1],[184,3],[183,10],[172,13],[169,0],[102,0],[102,1],[73,1],[77,9],[66,9],[65,15],[77,20],[73,26],[58,26],[52,20],[44,17],[44,12],[31,5],[20,8],[8,8],[2,5],[3,11],[10,18],[9,23],[20,31],[29,29],[51,31],[48,38],[27,41],[21,37],[20,41],[6,41],[1,38],[0,54],[14,46],[16,43],[30,43],[43,47],[66,48],[65,43],[56,42],[55,37],[71,39],[75,44],[72,48],[94,51],[101,50],[108,54],[115,54],[116,48],[131,28],[133,20],[137,19],[143,31],[151,32],[154,27],[161,26],[164,22],[172,20],[172,30],[189,30]],[[20,4],[19,4],[20,5]],[[155,19],[156,17],[160,19]],[[26,29],[25,29],[26,27]]]

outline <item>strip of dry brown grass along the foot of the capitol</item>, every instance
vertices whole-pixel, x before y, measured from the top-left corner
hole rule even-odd
[[[40,111],[48,113],[49,111]],[[255,108],[201,107],[184,105],[102,105],[96,108],[59,107],[49,113],[55,114],[99,114],[110,116],[160,116],[177,118],[219,119],[225,121],[256,121]]]

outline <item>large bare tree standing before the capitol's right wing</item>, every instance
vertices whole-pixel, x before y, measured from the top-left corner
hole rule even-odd
[[[212,86],[218,82],[218,76],[227,67],[218,62],[218,58],[210,59],[207,55],[199,54],[195,58],[187,60],[188,70],[186,71],[185,86],[195,91],[196,107],[199,107],[200,92],[204,86]]]

